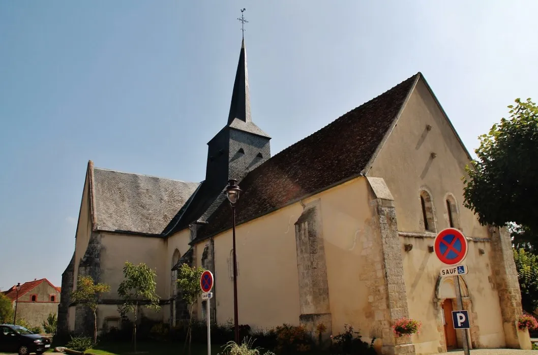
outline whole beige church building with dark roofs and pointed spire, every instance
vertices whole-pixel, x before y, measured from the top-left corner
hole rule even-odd
[[[386,354],[461,348],[451,320],[454,278],[440,277],[446,265],[433,248],[437,233],[452,227],[469,245],[469,273],[459,284],[471,349],[530,345],[516,327],[521,294],[509,234],[480,225],[463,206],[471,156],[421,73],[271,156],[271,137],[251,117],[243,40],[222,119],[207,143],[202,182],[88,163],[73,257],[62,274],[59,331],[93,330],[93,315],[70,301],[79,275],[111,286],[98,305],[98,328],[121,327],[117,287],[126,261],[157,273],[161,309],[141,315],[178,324],[188,315],[177,270],[188,263],[214,274],[212,322],[233,320],[236,277],[238,322],[252,329],[288,323],[314,331],[323,323],[329,336],[351,324]],[[229,179],[242,190],[236,276]],[[195,317],[206,316],[205,302]],[[391,327],[402,317],[422,322],[420,334],[395,336]]]

